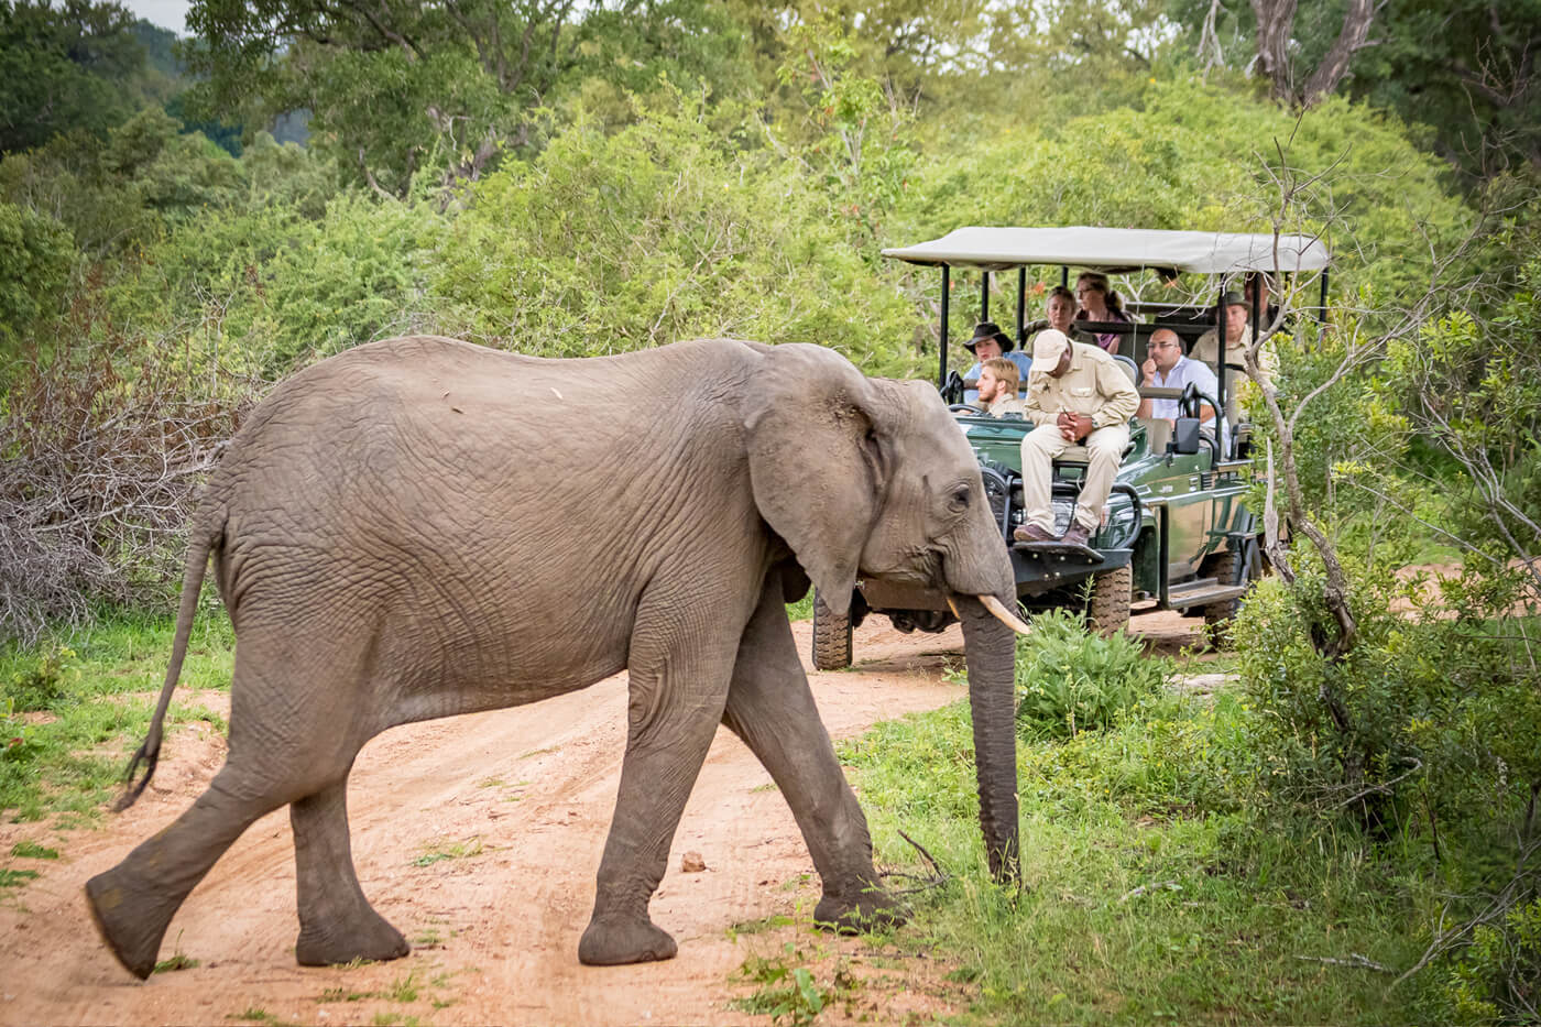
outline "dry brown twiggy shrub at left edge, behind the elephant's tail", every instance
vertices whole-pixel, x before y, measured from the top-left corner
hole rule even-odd
[[[196,487],[250,401],[186,398],[180,356],[117,338],[18,372],[0,410],[0,640],[180,581]]]

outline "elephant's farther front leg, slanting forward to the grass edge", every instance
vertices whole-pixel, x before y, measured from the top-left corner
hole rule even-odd
[[[878,885],[866,817],[818,719],[774,575],[744,631],[723,722],[792,808],[824,888],[814,921],[841,931],[903,922],[903,907]]]

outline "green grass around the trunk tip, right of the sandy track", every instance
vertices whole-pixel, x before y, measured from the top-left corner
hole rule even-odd
[[[1405,1022],[1412,910],[1362,839],[1273,831],[1244,779],[1245,705],[1160,697],[1103,732],[1019,745],[1023,888],[983,867],[965,703],[843,745],[880,865],[948,870],[883,945],[962,961],[972,1022]],[[911,884],[895,882],[895,887]]]

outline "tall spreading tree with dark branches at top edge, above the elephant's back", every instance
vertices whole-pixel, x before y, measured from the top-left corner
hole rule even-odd
[[[732,26],[704,0],[199,0],[188,25],[203,40],[186,54],[206,76],[199,113],[264,125],[308,109],[311,145],[396,196],[425,168],[478,179],[505,150],[532,151],[547,108],[587,77],[741,77]]]

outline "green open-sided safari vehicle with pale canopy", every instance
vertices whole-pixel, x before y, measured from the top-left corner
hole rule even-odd
[[[1244,497],[1253,480],[1248,424],[1224,424],[1225,375],[1211,367],[1216,396],[1157,389],[1139,381],[1136,361],[1157,328],[1171,328],[1185,352],[1210,327],[1222,324],[1222,301],[1247,276],[1321,274],[1321,302],[1327,304],[1330,256],[1311,236],[1231,234],[1208,231],[1154,231],[1133,228],[959,228],[914,247],[883,250],[883,256],[942,268],[940,350],[937,387],[948,399],[959,427],[979,456],[985,492],[1000,521],[1017,580],[1017,598],[1028,611],[1066,608],[1083,611],[1093,628],[1111,634],[1139,612],[1174,609],[1202,614],[1208,625],[1224,625],[1261,572],[1259,520]],[[1154,271],[1174,293],[1182,274],[1205,276],[1214,287],[1214,305],[1197,302],[1125,302],[1136,324],[1077,322],[1096,332],[1125,336],[1119,362],[1139,386],[1142,398],[1177,399],[1183,416],[1174,424],[1139,419],[1130,424],[1130,444],[1114,478],[1106,518],[1086,546],[1016,543],[1023,523],[1022,439],[1034,426],[1020,418],[991,418],[963,402],[963,381],[948,369],[948,307],[952,268],[980,273],[980,321],[989,319],[991,276],[1017,271],[1017,349],[1028,349],[1025,307],[1028,267],[1059,265],[1060,284],[1071,271],[1126,274]],[[1190,293],[1207,296],[1207,291]],[[1262,311],[1253,305],[1257,336]],[[1216,362],[1225,359],[1217,347]],[[1134,355],[1131,359],[1130,355]],[[1241,372],[1241,369],[1236,369]],[[1197,419],[1200,404],[1216,410],[1220,430]],[[1085,456],[1069,450],[1054,463],[1054,530],[1062,534],[1074,514]],[[858,581],[851,612],[837,617],[814,598],[814,665],[838,669],[851,663],[852,628],[871,614],[886,615],[900,631],[943,631],[955,617],[946,598],[918,588]]]

